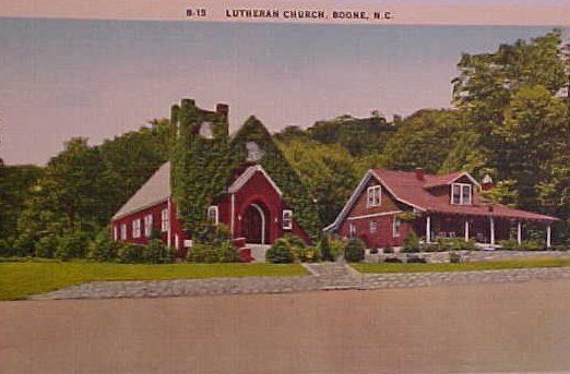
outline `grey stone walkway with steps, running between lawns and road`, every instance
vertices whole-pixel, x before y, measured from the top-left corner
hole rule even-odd
[[[45,299],[161,298],[185,295],[289,293],[317,290],[369,290],[436,285],[508,283],[570,279],[570,267],[483,272],[360,274],[340,263],[305,264],[311,273],[296,277],[242,277],[140,281],[92,281],[32,295]]]

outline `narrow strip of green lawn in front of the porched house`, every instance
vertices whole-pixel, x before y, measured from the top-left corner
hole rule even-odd
[[[470,264],[351,264],[352,267],[361,273],[427,273],[427,272],[473,272],[473,270],[497,270],[508,268],[526,267],[560,267],[570,266],[570,258],[554,257],[527,257],[485,261]]]

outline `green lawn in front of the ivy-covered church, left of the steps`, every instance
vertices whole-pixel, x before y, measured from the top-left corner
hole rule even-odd
[[[92,280],[144,280],[307,275],[299,264],[133,265],[88,262],[0,263],[0,300],[21,299]]]

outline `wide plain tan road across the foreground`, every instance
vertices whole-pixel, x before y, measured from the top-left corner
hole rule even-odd
[[[570,371],[570,280],[0,303],[1,373]]]

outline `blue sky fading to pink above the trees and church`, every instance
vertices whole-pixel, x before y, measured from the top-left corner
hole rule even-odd
[[[416,1],[420,2],[420,1]],[[44,164],[168,116],[181,97],[271,130],[343,113],[449,107],[462,52],[550,27],[0,19],[0,157]]]

